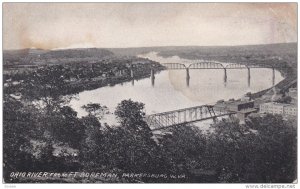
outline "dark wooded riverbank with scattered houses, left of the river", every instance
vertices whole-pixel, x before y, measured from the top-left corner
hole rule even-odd
[[[151,70],[158,72],[163,69],[157,62],[135,57],[97,63],[13,66],[4,70],[4,92],[16,96],[26,94],[28,99],[45,96],[57,98],[147,78]]]

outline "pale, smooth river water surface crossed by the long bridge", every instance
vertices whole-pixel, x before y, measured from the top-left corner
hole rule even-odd
[[[190,61],[179,57],[162,58],[156,53],[141,55],[160,63],[173,62],[189,64]],[[224,82],[224,70],[190,70],[187,82],[186,70],[164,70],[155,74],[155,79],[145,78],[134,82],[124,82],[115,86],[101,87],[79,93],[70,105],[78,116],[87,115],[81,106],[88,103],[100,103],[114,112],[118,103],[132,99],[145,104],[146,114],[153,114],[182,109],[203,104],[212,104],[218,100],[241,98],[247,92],[258,92],[273,85],[272,69],[251,69],[250,83],[247,69],[228,69],[227,81]],[[283,80],[280,72],[275,70],[275,81]],[[114,115],[106,115],[102,122],[116,124]]]

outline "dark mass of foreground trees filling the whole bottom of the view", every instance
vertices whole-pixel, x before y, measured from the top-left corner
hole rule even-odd
[[[208,134],[181,125],[157,137],[143,121],[143,107],[139,102],[122,101],[115,111],[119,125],[108,126],[99,122],[105,113],[101,105],[86,106],[89,114],[78,118],[65,105],[36,108],[5,97],[5,182],[26,182],[10,177],[11,172],[25,171],[186,175],[178,180],[126,178],[107,182],[290,183],[296,179],[297,132],[292,121],[266,115],[253,116],[240,125],[223,119]],[[55,145],[76,149],[78,154],[67,149],[54,154]]]

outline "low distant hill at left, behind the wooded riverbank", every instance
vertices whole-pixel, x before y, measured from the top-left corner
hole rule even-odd
[[[109,50],[99,48],[87,49],[21,49],[3,51],[4,64],[53,64],[69,62],[93,62],[114,56]]]

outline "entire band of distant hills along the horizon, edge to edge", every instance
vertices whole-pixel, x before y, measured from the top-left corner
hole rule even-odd
[[[59,64],[70,62],[97,62],[113,56],[137,56],[157,52],[163,57],[179,56],[185,59],[208,59],[228,62],[277,61],[297,65],[297,43],[244,46],[165,46],[137,48],[85,48],[64,50],[22,49],[3,51],[4,64]]]

